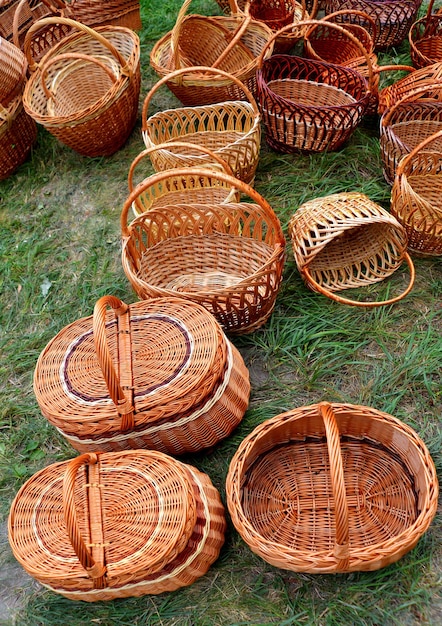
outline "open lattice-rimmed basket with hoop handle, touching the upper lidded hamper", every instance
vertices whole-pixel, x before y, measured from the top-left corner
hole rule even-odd
[[[185,174],[235,187],[253,204],[166,206],[127,224],[139,195]],[[249,185],[201,168],[159,172],[128,197],[121,229],[123,269],[140,298],[179,294],[206,307],[230,333],[251,332],[271,315],[282,280],[285,240],[272,208]]]

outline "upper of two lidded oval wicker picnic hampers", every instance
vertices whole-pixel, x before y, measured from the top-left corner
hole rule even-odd
[[[101,298],[48,343],[34,372],[43,415],[80,452],[211,447],[241,421],[249,391],[215,319],[177,297]]]

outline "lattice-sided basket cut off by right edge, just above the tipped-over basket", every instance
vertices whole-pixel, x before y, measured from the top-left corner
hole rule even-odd
[[[442,254],[442,131],[424,139],[399,162],[391,212],[408,235],[410,252]]]

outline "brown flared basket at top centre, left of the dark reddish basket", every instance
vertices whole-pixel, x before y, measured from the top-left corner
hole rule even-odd
[[[189,2],[184,3],[174,29],[152,48],[152,68],[160,78],[184,67],[218,68],[238,78],[254,95],[258,57],[272,35],[270,28],[239,14],[230,17],[186,16]],[[273,44],[266,50],[266,56],[270,56]],[[238,88],[231,78],[207,76],[205,72],[190,76],[184,73],[167,80],[166,84],[185,106],[244,97],[242,88]]]

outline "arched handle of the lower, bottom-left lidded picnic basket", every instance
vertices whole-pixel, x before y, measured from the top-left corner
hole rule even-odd
[[[63,508],[66,522],[66,530],[69,535],[69,540],[74,548],[75,554],[78,557],[82,567],[86,570],[88,576],[94,581],[95,589],[103,589],[106,586],[106,566],[103,562],[96,561],[89,548],[86,546],[83,537],[81,536],[80,529],[77,522],[77,513],[75,509],[74,499],[74,485],[77,472],[82,465],[96,465],[98,463],[98,455],[95,453],[82,454],[75,459],[72,459],[67,464],[66,471],[63,477]],[[92,485],[88,485],[91,491]],[[99,489],[96,492],[99,497]],[[91,502],[92,494],[89,493],[89,502]],[[93,507],[95,508],[95,507]],[[93,511],[90,511],[92,514]],[[91,515],[92,516],[92,515]],[[104,560],[104,559],[102,559]]]

